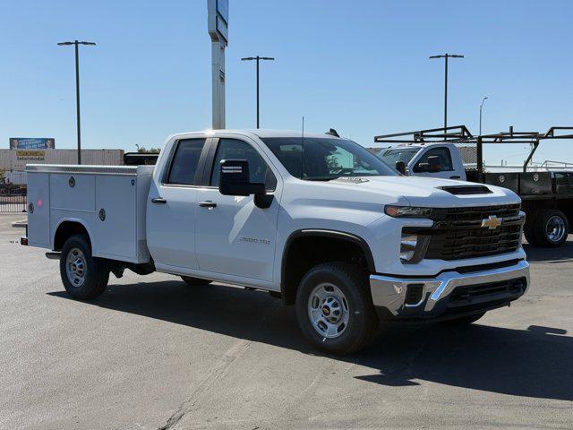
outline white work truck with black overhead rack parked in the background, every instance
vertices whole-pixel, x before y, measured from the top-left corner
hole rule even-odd
[[[458,128],[458,127],[450,127]],[[465,128],[465,127],[464,127]],[[566,127],[561,127],[566,128]],[[568,127],[573,129],[573,127]],[[428,141],[417,141],[423,133],[432,133],[436,130],[413,132],[415,136],[412,142],[400,144],[393,148],[386,148],[377,153],[386,164],[396,168],[400,173],[407,176],[424,176],[446,179],[469,180],[472,182],[489,185],[499,185],[509,188],[517,193],[522,200],[521,209],[526,212],[527,220],[524,226],[524,235],[529,245],[540,247],[557,247],[567,242],[569,233],[573,233],[573,171],[539,170],[527,171],[527,161],[521,172],[496,171],[480,173],[477,165],[481,157],[477,157],[478,163],[473,166],[468,164],[466,170],[463,159],[472,159],[477,149],[464,148],[463,144],[472,141],[461,141],[458,146],[452,142],[439,142],[442,136],[426,134]],[[439,132],[441,133],[441,131]],[[501,133],[500,137],[489,137],[489,143],[503,143],[504,138],[513,138],[513,132]],[[376,136],[376,142],[393,142],[394,136],[410,133],[398,133]],[[517,134],[517,136],[522,134]],[[547,139],[549,132],[540,134]],[[557,136],[555,138],[571,138],[571,136]],[[551,134],[551,138],[554,138]],[[433,142],[430,139],[437,139]],[[496,140],[497,139],[497,140]],[[533,141],[532,141],[533,142]],[[470,143],[471,144],[471,143]],[[474,141],[475,144],[475,141]],[[533,156],[539,141],[533,143],[533,150],[529,157]],[[377,150],[377,149],[372,149]],[[466,157],[462,157],[460,150],[466,150]],[[529,160],[528,158],[527,160]],[[499,170],[499,168],[498,168]],[[501,170],[504,170],[503,168]],[[506,169],[507,170],[507,169]]]

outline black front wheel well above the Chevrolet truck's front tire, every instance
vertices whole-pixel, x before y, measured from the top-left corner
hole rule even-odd
[[[358,236],[329,230],[304,230],[286,241],[280,288],[286,305],[295,303],[304,273],[322,262],[349,262],[363,271],[374,271],[370,248]]]

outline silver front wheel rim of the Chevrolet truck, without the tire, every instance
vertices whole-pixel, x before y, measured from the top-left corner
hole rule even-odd
[[[338,338],[346,330],[348,302],[336,285],[325,282],[312,288],[307,307],[312,327],[324,338]]]

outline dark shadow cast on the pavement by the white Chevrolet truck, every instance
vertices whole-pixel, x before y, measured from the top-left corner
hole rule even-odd
[[[70,298],[65,292],[47,294]],[[294,307],[283,306],[261,291],[217,284],[189,288],[180,281],[160,281],[112,285],[90,303],[315,353],[298,331]],[[564,336],[566,333],[533,325],[526,330],[480,324],[464,328],[389,327],[362,353],[331,358],[370,367],[373,374],[357,376],[369,383],[408,386],[429,381],[516,396],[573,400],[573,338]]]

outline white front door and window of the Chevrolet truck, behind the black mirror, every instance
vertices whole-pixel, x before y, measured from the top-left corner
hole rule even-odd
[[[252,280],[272,281],[277,237],[278,200],[282,181],[269,167],[255,142],[244,136],[214,139],[205,172],[209,186],[197,190],[196,235],[199,269]],[[246,159],[252,182],[264,182],[274,194],[261,209],[253,196],[223,195],[218,191],[222,159]]]

